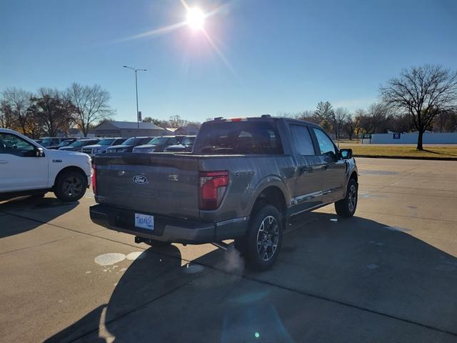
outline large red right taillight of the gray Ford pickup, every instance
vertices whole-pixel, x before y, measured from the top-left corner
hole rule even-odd
[[[200,172],[200,209],[217,209],[229,186],[229,172]]]

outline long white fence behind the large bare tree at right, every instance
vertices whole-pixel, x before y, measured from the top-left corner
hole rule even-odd
[[[412,134],[371,134],[371,139],[363,138],[362,144],[417,144],[418,133]],[[457,132],[424,133],[423,144],[457,144]]]

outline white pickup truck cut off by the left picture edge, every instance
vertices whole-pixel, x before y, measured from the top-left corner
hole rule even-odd
[[[80,152],[46,149],[16,131],[0,128],[0,199],[42,197],[54,192],[76,202],[91,184],[91,158]]]

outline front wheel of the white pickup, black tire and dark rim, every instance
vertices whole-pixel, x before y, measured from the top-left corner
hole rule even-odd
[[[87,177],[79,172],[69,170],[57,177],[54,194],[62,202],[77,202],[84,197],[87,188]]]

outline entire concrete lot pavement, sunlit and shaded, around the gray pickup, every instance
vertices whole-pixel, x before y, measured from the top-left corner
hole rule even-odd
[[[0,341],[456,342],[457,162],[357,161],[356,217],[294,219],[263,273],[134,244],[91,192],[0,203]]]

